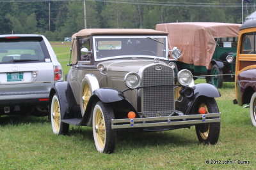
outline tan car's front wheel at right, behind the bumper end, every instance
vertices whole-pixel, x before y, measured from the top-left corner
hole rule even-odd
[[[204,97],[199,101],[198,107],[204,107],[207,114],[219,113],[218,105],[214,98]],[[198,141],[204,144],[216,144],[220,136],[220,122],[197,124],[196,135]]]

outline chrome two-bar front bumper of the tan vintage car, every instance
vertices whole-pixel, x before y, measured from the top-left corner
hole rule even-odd
[[[220,122],[220,117],[221,117],[221,113],[210,113],[210,114],[202,114],[202,115],[182,115],[182,116],[170,116],[170,117],[112,119],[111,128],[125,129],[125,128],[135,128],[135,127],[206,124],[206,123],[212,123],[212,122]],[[191,118],[193,118],[193,120],[186,120]],[[178,120],[178,121],[175,121],[175,120]],[[157,122],[152,122],[152,121],[157,121]]]

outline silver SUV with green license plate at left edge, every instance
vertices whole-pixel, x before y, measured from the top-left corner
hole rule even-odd
[[[0,115],[47,115],[49,91],[61,65],[42,35],[0,36]]]

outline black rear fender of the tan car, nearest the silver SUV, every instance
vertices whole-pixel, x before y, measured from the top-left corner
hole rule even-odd
[[[51,101],[54,94],[58,94],[61,108],[61,119],[65,118],[76,118],[79,117],[77,113],[77,104],[68,81],[61,81],[54,84],[50,90],[50,102],[49,102],[49,111],[51,113]],[[81,112],[81,111],[80,111]],[[81,117],[81,113],[80,113]]]

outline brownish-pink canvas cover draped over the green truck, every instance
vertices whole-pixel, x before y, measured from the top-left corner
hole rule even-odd
[[[169,48],[177,46],[182,55],[179,61],[211,68],[216,47],[214,38],[237,37],[241,24],[215,22],[180,22],[157,24],[157,31],[168,32]]]

